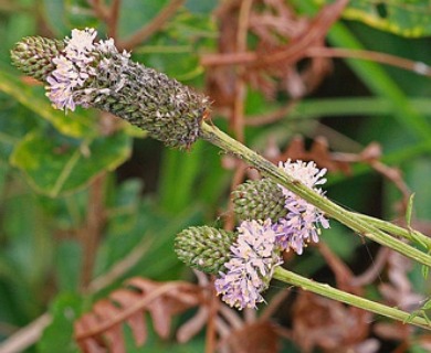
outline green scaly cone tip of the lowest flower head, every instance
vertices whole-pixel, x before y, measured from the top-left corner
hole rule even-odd
[[[230,247],[236,235],[213,227],[189,227],[175,239],[175,252],[186,265],[202,272],[217,275],[223,271],[231,258]]]

